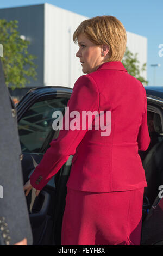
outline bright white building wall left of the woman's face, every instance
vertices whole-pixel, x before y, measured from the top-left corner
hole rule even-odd
[[[73,33],[87,17],[45,4],[44,84],[74,86],[83,75]]]

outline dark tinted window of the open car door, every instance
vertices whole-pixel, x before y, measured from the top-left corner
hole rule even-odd
[[[34,103],[26,114],[18,122],[18,133],[22,152],[45,153],[49,143],[58,136],[54,131],[52,118],[54,111],[64,114],[68,99],[65,97],[55,98]]]

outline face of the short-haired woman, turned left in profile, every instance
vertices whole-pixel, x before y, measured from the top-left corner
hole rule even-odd
[[[91,73],[96,71],[98,66],[104,63],[104,57],[102,56],[102,47],[95,45],[84,35],[78,37],[79,51],[76,56],[80,58],[82,63],[83,73]]]

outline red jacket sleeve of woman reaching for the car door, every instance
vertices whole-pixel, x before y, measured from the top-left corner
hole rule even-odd
[[[66,126],[68,118],[70,124],[68,129],[60,130],[58,138],[50,143],[51,147],[46,151],[40,164],[30,176],[30,182],[37,190],[41,190],[52,176],[60,170],[62,165],[68,160],[68,157],[74,155],[76,148],[85,136],[87,129],[82,130],[82,111],[93,112],[99,109],[99,92],[96,82],[92,77],[83,75],[78,78],[74,84],[67,107],[68,111],[66,110],[63,118],[63,127]],[[79,127],[78,130],[72,129],[71,121],[73,120],[73,115],[77,123],[80,123],[81,129]]]

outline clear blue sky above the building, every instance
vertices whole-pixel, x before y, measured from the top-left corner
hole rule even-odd
[[[163,86],[163,56],[159,57],[159,44],[163,44],[163,1],[162,0],[1,0],[0,8],[49,3],[87,17],[113,15],[127,31],[146,36],[148,39],[147,72],[149,85],[153,85],[151,64],[156,68],[156,86]],[[0,17],[1,19],[1,17]]]

